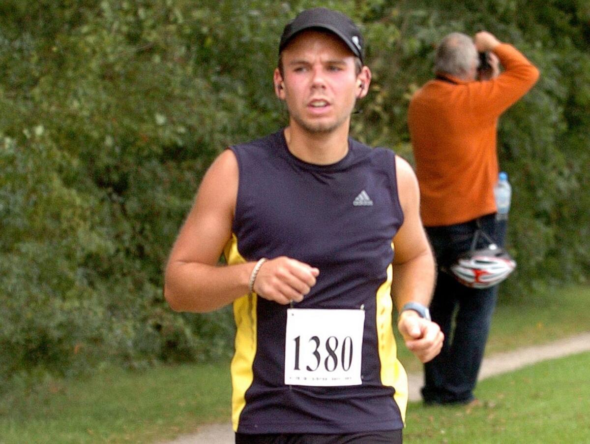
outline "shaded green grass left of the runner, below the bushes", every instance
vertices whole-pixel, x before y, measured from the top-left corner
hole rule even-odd
[[[150,443],[229,417],[228,363],[111,368],[0,401],[0,444]]]

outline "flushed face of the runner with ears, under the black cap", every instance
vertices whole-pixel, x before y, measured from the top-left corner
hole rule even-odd
[[[277,68],[274,81],[291,126],[314,133],[348,129],[357,97],[368,90],[369,68],[357,74],[352,51],[330,32],[301,32],[283,50],[282,60],[283,76]]]

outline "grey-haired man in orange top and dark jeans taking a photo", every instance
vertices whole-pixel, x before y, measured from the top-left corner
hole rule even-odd
[[[489,54],[493,70],[487,78],[478,76],[478,53]],[[535,84],[539,71],[512,45],[484,31],[473,39],[447,35],[437,50],[435,74],[414,94],[408,111],[421,216],[439,269],[431,316],[445,335],[440,355],[425,364],[422,397],[429,404],[470,403],[497,290],[468,288],[440,271],[468,251],[477,227],[503,243],[505,225],[497,229],[493,195],[497,121]]]

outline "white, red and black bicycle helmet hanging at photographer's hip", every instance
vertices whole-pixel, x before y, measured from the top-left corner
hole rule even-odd
[[[471,288],[490,288],[502,282],[516,268],[516,261],[503,248],[491,243],[470,250],[451,265],[451,274]]]

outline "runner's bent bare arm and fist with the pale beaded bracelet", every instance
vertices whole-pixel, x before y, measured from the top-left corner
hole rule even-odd
[[[249,290],[255,262],[218,265],[231,237],[238,179],[237,159],[230,150],[219,155],[203,178],[166,265],[164,296],[176,311],[212,311]],[[299,302],[318,273],[295,259],[277,257],[260,268],[254,290],[278,303]]]

